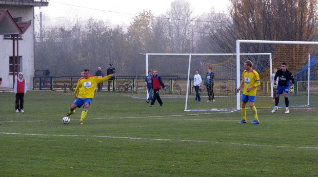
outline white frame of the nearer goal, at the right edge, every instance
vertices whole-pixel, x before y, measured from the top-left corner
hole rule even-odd
[[[243,55],[240,53],[240,44],[241,43],[257,43],[257,44],[300,44],[300,45],[318,45],[318,42],[305,42],[305,41],[271,41],[271,40],[236,40],[236,78],[240,78],[240,56]],[[310,54],[308,54],[308,62],[310,62]],[[270,71],[272,71],[272,65],[270,60]],[[308,67],[308,72],[310,72],[310,65]],[[308,74],[308,98],[307,98],[307,106],[309,106],[309,82],[310,82],[310,74]],[[240,85],[240,80],[236,80],[237,87]],[[271,85],[272,87],[272,85]],[[272,88],[271,88],[272,90]],[[236,109],[240,110],[240,92],[236,93]],[[272,92],[272,91],[271,91]]]

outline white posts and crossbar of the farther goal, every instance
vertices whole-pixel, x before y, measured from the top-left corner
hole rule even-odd
[[[146,56],[146,75],[148,75],[148,70],[149,70],[149,59],[148,56],[189,56],[189,61],[188,61],[188,74],[187,74],[187,89],[186,89],[186,103],[185,103],[185,111],[190,111],[187,109],[187,103],[188,103],[188,93],[189,93],[189,84],[190,84],[190,68],[191,68],[191,56],[236,56],[237,54],[145,54]],[[242,56],[268,56],[268,60],[270,63],[270,68],[272,70],[272,66],[271,66],[271,53],[249,53],[249,54],[241,54]],[[238,65],[238,68],[240,68],[240,63],[236,63],[236,65]],[[235,68],[233,68],[235,70]],[[240,70],[236,71],[238,72],[238,74],[236,74],[236,81],[240,81]],[[239,75],[237,77],[237,75]],[[270,79],[270,75],[271,73],[268,74],[269,75],[269,79]],[[237,88],[237,87],[235,87]],[[146,93],[146,97],[148,97],[148,91]],[[240,96],[240,95],[238,95]],[[271,96],[273,96],[273,89],[271,89]],[[240,99],[236,100],[236,105],[240,104]],[[240,109],[240,106],[238,106],[238,108],[236,109]]]

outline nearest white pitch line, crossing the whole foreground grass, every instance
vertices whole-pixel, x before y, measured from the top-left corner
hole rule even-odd
[[[0,134],[6,134],[6,135],[26,135],[26,136],[63,136],[63,137],[115,138],[115,139],[151,140],[151,141],[179,141],[179,142],[197,142],[197,143],[212,143],[212,144],[232,144],[232,145],[260,146],[260,147],[281,147],[281,148],[318,149],[318,147],[278,146],[278,145],[260,145],[260,144],[246,144],[246,143],[227,143],[227,142],[203,141],[203,140],[176,140],[176,139],[155,139],[155,138],[135,138],[135,137],[115,137],[115,136],[91,136],[91,135],[46,135],[46,134],[6,133],[6,132],[0,132]]]

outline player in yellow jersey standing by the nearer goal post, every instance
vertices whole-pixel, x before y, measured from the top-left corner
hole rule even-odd
[[[250,102],[255,120],[251,124],[259,124],[259,118],[257,117],[257,110],[254,106],[257,87],[261,85],[259,73],[253,68],[253,63],[250,60],[244,62],[244,72],[242,74],[242,82],[240,87],[237,88],[238,93],[244,85],[244,91],[242,95],[242,116],[243,120],[240,123],[246,123],[246,104]]]

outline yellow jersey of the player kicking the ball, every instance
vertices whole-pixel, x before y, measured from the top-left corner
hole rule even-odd
[[[102,83],[111,78],[111,74],[105,76],[104,78],[99,78],[96,76],[90,75],[89,78],[85,79],[84,77],[79,79],[77,86],[74,92],[74,96],[78,98],[94,98],[95,89],[98,83]]]

